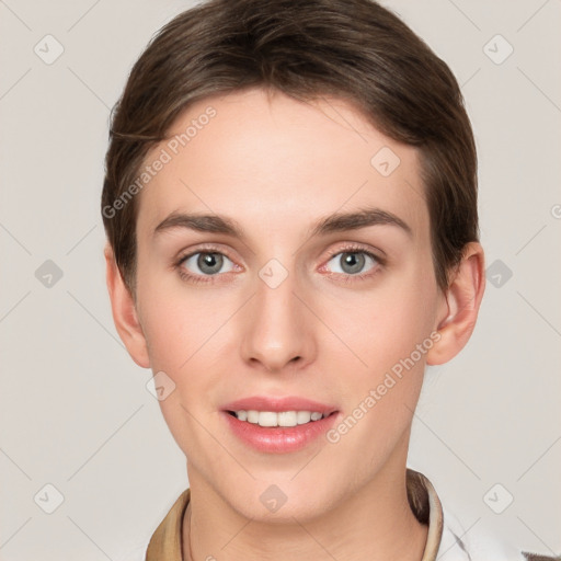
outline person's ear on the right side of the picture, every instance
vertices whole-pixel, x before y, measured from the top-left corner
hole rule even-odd
[[[483,248],[470,242],[443,295],[436,330],[440,339],[426,353],[426,364],[444,364],[454,358],[469,341],[485,290]]]

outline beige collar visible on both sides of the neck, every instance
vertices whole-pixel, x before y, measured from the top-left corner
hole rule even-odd
[[[413,514],[420,523],[428,525],[422,561],[435,561],[443,535],[440,501],[428,479],[410,468],[407,471],[407,488]],[[183,516],[190,497],[191,489],[186,489],[160,523],[148,545],[146,561],[192,561],[188,551],[182,554]],[[186,538],[185,542],[188,543],[188,536]]]

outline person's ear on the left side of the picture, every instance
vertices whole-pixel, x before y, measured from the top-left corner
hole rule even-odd
[[[142,328],[138,321],[135,302],[118,270],[113,250],[108,242],[105,245],[104,255],[107,290],[110,293],[115,328],[133,360],[142,368],[149,368],[150,359],[148,356],[148,347]]]

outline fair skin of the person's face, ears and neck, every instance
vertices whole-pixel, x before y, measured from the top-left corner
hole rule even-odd
[[[139,366],[175,383],[160,405],[187,458],[192,557],[420,560],[427,527],[405,493],[413,411],[425,365],[449,360],[471,335],[484,288],[481,245],[466,247],[440,290],[416,149],[343,100],[300,103],[260,89],[209,98],[170,136],[208,105],[216,117],[137,195],[136,301],[105,250],[122,340]],[[370,164],[382,147],[401,160],[387,178]],[[309,236],[320,218],[365,206],[411,232],[375,225]],[[180,227],[153,236],[173,211],[226,215],[245,238]],[[219,273],[197,267],[198,255],[175,266],[203,243],[226,255]],[[351,243],[383,259],[359,254],[363,279],[345,266]],[[288,273],[274,289],[259,276],[271,259]],[[185,280],[180,270],[207,282]],[[435,332],[439,341],[335,444],[320,437],[296,453],[260,453],[219,414],[242,397],[302,396],[344,419]],[[287,496],[276,513],[260,501],[271,484]]]

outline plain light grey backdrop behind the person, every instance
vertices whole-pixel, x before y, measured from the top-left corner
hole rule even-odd
[[[383,3],[462,85],[482,242],[488,266],[501,262],[465,352],[427,371],[410,466],[467,533],[559,554],[561,1]],[[187,486],[151,373],[113,327],[99,207],[110,107],[151,35],[190,5],[0,1],[2,560],[121,559]],[[47,34],[64,47],[50,65],[34,53],[56,53]],[[514,48],[502,64],[497,34]],[[50,287],[35,275],[47,260],[62,272]],[[53,514],[46,484],[64,496]]]

